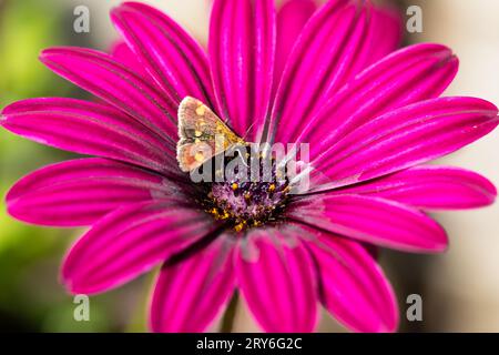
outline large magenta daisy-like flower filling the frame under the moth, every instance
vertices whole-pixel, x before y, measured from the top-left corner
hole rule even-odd
[[[43,63],[103,103],[26,100],[3,110],[1,125],[98,158],[23,178],[7,196],[10,214],[92,226],[62,268],[73,293],[103,292],[163,263],[151,305],[156,332],[205,329],[235,290],[268,332],[314,331],[318,303],[350,329],[395,331],[396,300],[368,250],[441,252],[446,233],[424,211],[493,202],[485,178],[420,164],[492,131],[498,110],[438,98],[457,72],[451,51],[418,44],[390,53],[397,18],[359,3],[329,1],[312,16],[309,1],[288,1],[276,14],[272,0],[217,0],[206,55],[169,17],[129,2],[112,20],[134,62],[81,48],[43,51]],[[231,202],[247,191],[200,186],[180,171],[176,114],[186,95],[248,141],[310,143],[319,172],[312,190],[274,199],[272,219],[241,232],[206,213],[210,193]],[[248,209],[272,192],[262,183],[252,193]]]

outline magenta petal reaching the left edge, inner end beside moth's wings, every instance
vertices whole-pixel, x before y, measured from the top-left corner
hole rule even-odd
[[[47,145],[159,172],[177,172],[172,169],[175,156],[170,144],[108,105],[62,98],[30,99],[4,108],[0,123],[16,134]]]

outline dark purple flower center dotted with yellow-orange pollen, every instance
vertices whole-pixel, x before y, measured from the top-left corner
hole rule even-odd
[[[256,181],[235,176],[211,183],[203,203],[205,211],[217,221],[226,221],[236,232],[276,222],[289,192],[288,181],[276,175],[273,163],[271,173],[261,172]]]

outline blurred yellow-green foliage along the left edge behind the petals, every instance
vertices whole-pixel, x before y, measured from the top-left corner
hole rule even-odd
[[[63,30],[71,16],[71,9],[53,1],[0,0],[0,108],[33,97],[82,95],[38,61],[43,48],[71,44],[71,30]],[[69,158],[0,129],[0,331],[144,331],[145,306],[136,307],[144,302],[129,300],[143,298],[141,282],[92,297],[91,322],[75,322],[73,297],[58,276],[65,250],[81,231],[29,226],[6,212],[3,197],[19,178]],[[131,326],[130,317],[136,320]]]

